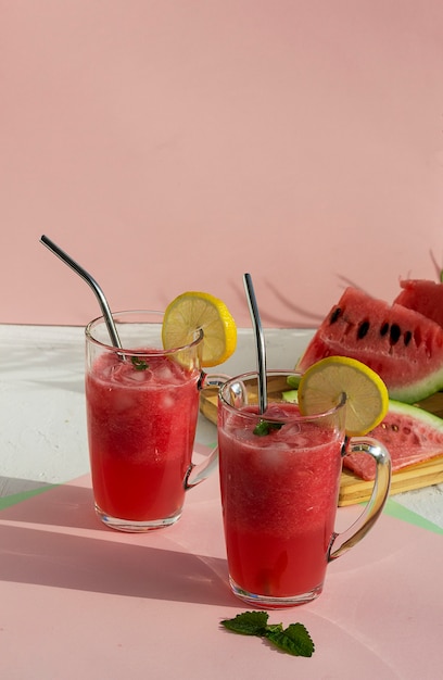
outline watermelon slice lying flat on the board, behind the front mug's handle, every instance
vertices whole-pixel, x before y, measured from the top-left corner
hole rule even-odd
[[[393,473],[443,455],[443,420],[408,404],[390,402],[387,417],[368,437],[385,445]],[[345,455],[343,467],[365,480],[372,480],[376,476],[376,462],[366,453]]]

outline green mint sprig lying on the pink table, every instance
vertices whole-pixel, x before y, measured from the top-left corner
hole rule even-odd
[[[303,624],[268,624],[266,612],[243,612],[235,618],[225,619],[221,626],[241,635],[266,638],[276,647],[292,656],[312,656],[314,642]]]

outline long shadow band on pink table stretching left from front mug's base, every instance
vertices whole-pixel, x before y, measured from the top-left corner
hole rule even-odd
[[[0,526],[3,581],[235,606],[225,568],[224,559],[179,550]]]

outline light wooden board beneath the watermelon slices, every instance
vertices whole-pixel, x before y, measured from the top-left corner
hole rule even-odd
[[[206,388],[202,390],[200,396],[200,411],[211,423],[217,424],[217,388]],[[429,399],[417,404],[435,415],[443,417],[443,394],[433,394]],[[442,455],[419,463],[408,465],[397,473],[393,473],[391,481],[391,495],[412,489],[421,489],[443,482],[443,451]],[[365,481],[351,473],[343,470],[339,505],[353,505],[354,503],[366,502],[371,493],[372,482]]]

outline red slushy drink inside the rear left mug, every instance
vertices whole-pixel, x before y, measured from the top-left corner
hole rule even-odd
[[[105,521],[163,526],[180,516],[199,378],[197,367],[187,369],[155,350],[132,361],[115,352],[93,361],[86,375],[89,452],[96,505]]]

